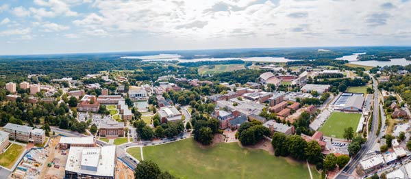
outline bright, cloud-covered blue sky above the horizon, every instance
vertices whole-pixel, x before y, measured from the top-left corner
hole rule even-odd
[[[411,0],[1,0],[0,55],[410,46]]]

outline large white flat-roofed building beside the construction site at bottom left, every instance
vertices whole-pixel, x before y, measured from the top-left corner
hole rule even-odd
[[[64,178],[114,179],[116,146],[71,147]]]

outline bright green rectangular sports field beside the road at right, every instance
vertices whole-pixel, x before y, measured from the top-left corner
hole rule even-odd
[[[328,120],[320,128],[320,131],[325,136],[343,139],[344,129],[352,127],[355,132],[360,118],[360,113],[334,112],[329,115]]]

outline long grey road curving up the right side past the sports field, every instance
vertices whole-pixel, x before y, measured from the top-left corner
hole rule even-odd
[[[370,75],[371,76],[371,75]],[[362,146],[360,152],[353,159],[345,166],[343,171],[341,171],[335,178],[337,179],[345,179],[345,178],[352,178],[355,174],[353,172],[356,170],[356,167],[359,165],[362,157],[373,148],[375,142],[377,140],[377,127],[378,127],[378,114],[379,114],[379,92],[377,87],[377,81],[374,77],[371,76],[373,79],[373,88],[374,88],[374,107],[373,107],[373,124],[371,125],[371,132],[369,133],[369,137]]]

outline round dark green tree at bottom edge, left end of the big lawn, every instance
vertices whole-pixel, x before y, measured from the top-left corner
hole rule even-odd
[[[141,161],[134,170],[134,178],[136,179],[156,179],[160,174],[160,167],[152,161]]]

